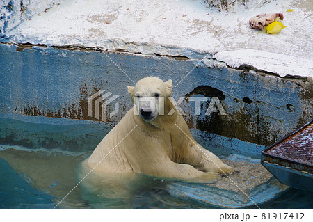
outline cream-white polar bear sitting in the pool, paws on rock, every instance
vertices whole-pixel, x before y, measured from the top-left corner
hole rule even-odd
[[[172,80],[145,77],[127,88],[134,106],[86,160],[93,173],[211,182],[233,171],[191,136],[170,97]]]

